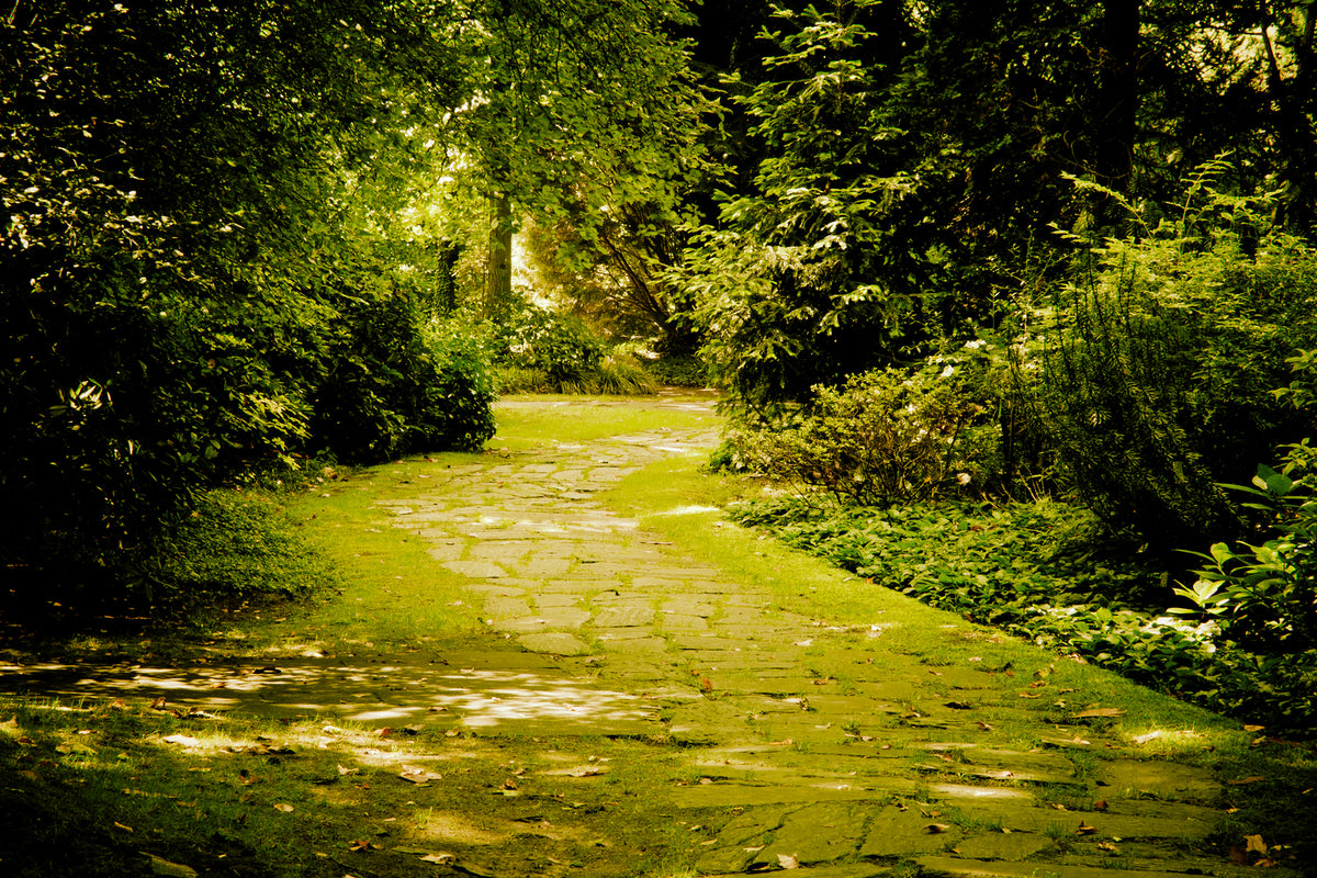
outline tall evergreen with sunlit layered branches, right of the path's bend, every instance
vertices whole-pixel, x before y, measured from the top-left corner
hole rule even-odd
[[[880,21],[890,8],[778,9],[765,82],[727,83],[766,155],[718,225],[699,229],[676,283],[739,412],[770,416],[881,365],[914,308],[914,242],[893,221],[911,182],[878,112],[882,53],[902,32]]]

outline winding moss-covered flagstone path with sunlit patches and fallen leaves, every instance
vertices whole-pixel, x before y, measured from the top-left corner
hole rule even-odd
[[[479,736],[649,740],[680,767],[643,807],[681,827],[698,875],[1254,874],[1200,853],[1225,816],[1218,779],[1143,758],[1108,712],[1085,710],[1100,698],[1048,688],[1042,653],[1036,674],[964,649],[939,661],[892,649],[882,624],[785,612],[597,499],[715,438],[661,430],[491,455],[381,508],[469,579],[489,628],[519,649],[161,671],[169,695]],[[982,634],[947,616],[935,636]],[[137,669],[96,691],[150,695],[157,682]],[[1002,717],[1014,744],[989,735]]]

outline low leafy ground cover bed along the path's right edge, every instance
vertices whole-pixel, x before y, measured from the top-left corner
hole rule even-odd
[[[1252,652],[1212,620],[1167,612],[1152,565],[1081,507],[794,498],[732,516],[874,583],[1205,707],[1317,729],[1317,650]]]

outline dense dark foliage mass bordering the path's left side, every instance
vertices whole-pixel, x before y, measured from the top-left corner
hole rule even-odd
[[[421,386],[440,370],[415,279],[444,254],[411,250],[408,274],[379,221],[425,161],[415,99],[449,88],[450,53],[398,9],[365,12],[11,11],[4,563],[113,577],[250,466],[489,432]]]

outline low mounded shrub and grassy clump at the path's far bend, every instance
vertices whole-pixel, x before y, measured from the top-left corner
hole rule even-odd
[[[610,351],[583,320],[523,301],[493,329],[502,394],[639,394],[658,384],[640,362]]]

